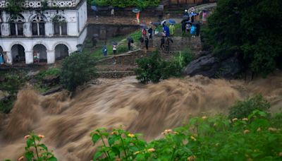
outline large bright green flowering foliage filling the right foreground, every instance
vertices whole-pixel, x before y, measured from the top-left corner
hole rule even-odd
[[[140,134],[97,129],[91,133],[93,143],[100,144],[93,160],[281,160],[282,125],[272,119],[258,110],[233,121],[195,117],[149,143]]]

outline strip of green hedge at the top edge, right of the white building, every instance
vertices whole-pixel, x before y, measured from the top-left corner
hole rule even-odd
[[[94,6],[114,6],[114,7],[138,7],[138,8],[147,8],[148,6],[158,6],[160,3],[159,0],[92,0],[90,4]]]

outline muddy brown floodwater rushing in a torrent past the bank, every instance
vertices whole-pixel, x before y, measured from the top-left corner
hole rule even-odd
[[[251,83],[202,76],[151,85],[140,85],[134,77],[102,80],[72,99],[66,92],[44,97],[21,90],[11,114],[0,115],[0,160],[22,155],[28,131],[46,136],[44,143],[59,160],[91,160],[93,129],[123,125],[144,133],[147,140],[159,138],[164,129],[181,126],[191,115],[226,113],[235,100],[253,93],[262,93],[276,112],[282,107],[282,74]]]

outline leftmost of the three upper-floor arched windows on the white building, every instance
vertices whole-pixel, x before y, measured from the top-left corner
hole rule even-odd
[[[23,16],[11,16],[10,18],[10,34],[11,35],[23,35]]]

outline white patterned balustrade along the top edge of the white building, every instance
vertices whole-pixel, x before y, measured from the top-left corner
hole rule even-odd
[[[78,5],[80,0],[25,0],[23,2],[24,8],[42,8],[44,3],[45,7],[49,8],[68,8]],[[8,6],[8,0],[0,0],[0,8],[6,8]]]

